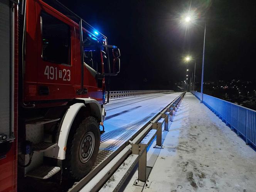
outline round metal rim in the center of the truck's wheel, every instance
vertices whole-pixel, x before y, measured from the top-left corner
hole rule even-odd
[[[86,163],[93,155],[95,137],[93,132],[89,131],[83,136],[79,148],[79,158],[82,163]]]

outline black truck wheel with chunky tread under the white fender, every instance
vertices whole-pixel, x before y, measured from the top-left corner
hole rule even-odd
[[[67,140],[64,160],[64,170],[69,178],[81,180],[89,173],[98,155],[99,143],[99,123],[96,118],[89,116],[82,121],[76,118]]]

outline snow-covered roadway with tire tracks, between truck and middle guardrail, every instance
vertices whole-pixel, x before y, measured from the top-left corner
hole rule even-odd
[[[101,144],[94,167],[128,141],[155,114],[180,94],[169,92],[110,100],[104,106],[107,113],[104,121],[106,132],[101,135]]]

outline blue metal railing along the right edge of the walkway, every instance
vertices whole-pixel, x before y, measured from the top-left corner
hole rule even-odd
[[[200,92],[194,95],[200,100]],[[227,126],[241,136],[247,145],[256,148],[256,111],[204,94],[203,103]]]

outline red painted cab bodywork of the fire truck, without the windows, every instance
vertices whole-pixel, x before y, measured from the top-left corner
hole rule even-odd
[[[42,58],[42,29],[40,24],[42,11],[69,25],[71,36],[70,65],[44,61]],[[27,0],[26,19],[24,102],[41,101],[40,103],[43,103],[42,101],[44,101],[47,103],[49,100],[56,100],[56,102],[51,101],[51,105],[56,106],[65,104],[65,102],[60,102],[60,99],[93,98],[103,104],[104,79],[102,88],[98,88],[97,79],[85,66],[84,89],[87,89],[88,93],[77,94],[81,85],[79,25],[40,0]],[[86,30],[84,29],[84,31]],[[103,62],[101,64],[102,70],[104,70]],[[47,70],[48,73],[51,72],[50,77],[44,74]],[[101,73],[103,72],[101,71]],[[49,95],[39,95],[39,86],[47,86]]]

